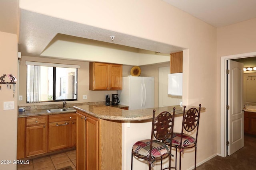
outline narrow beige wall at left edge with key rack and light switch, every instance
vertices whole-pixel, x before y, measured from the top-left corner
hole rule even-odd
[[[0,32],[0,76],[12,74],[18,77],[18,41],[17,35]],[[5,82],[10,82],[5,78]],[[18,83],[18,81],[17,81]],[[15,86],[15,96],[12,89],[2,84],[0,90],[0,160],[16,160],[17,151],[17,95],[18,85]],[[4,110],[4,102],[14,102],[14,110]],[[0,164],[0,170],[16,169],[16,164]]]

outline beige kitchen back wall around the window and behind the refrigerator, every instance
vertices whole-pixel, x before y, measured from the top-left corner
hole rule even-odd
[[[25,105],[44,105],[44,104],[61,104],[62,102],[43,102],[38,104],[27,104],[26,103],[26,61],[46,62],[46,63],[58,63],[58,64],[76,64],[80,65],[78,69],[78,101],[69,101],[68,103],[77,102],[103,102],[105,101],[106,94],[116,94],[116,90],[111,91],[91,91],[89,90],[89,63],[84,61],[70,61],[62,59],[49,59],[40,57],[28,57],[22,56],[20,61],[20,84],[19,84],[19,95],[23,96],[22,101],[18,101],[19,106]],[[158,106],[158,69],[162,66],[170,66],[170,62],[164,64],[154,64],[149,66],[142,66],[141,76],[154,76],[155,77],[155,107]],[[133,66],[123,65],[123,76],[130,75],[130,70]],[[82,99],[82,95],[86,94],[87,99]],[[111,95],[110,95],[111,96]]]

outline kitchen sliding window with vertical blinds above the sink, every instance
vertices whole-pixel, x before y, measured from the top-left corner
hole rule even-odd
[[[26,62],[27,103],[77,100],[77,72],[80,66]]]

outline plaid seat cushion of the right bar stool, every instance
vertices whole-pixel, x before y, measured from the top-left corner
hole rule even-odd
[[[180,146],[180,137],[181,137],[181,133],[173,133],[173,137],[172,137],[172,145],[177,145]],[[170,138],[166,139],[166,141],[168,143],[170,143]],[[187,146],[190,145],[194,145],[196,142],[196,139],[190,135],[187,134],[183,134],[182,136],[182,148],[185,148]]]

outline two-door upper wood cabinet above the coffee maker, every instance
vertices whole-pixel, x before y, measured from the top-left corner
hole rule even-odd
[[[90,63],[89,90],[122,90],[122,65]]]

